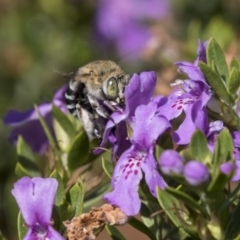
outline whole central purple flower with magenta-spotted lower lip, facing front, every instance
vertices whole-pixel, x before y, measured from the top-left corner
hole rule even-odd
[[[104,196],[128,216],[136,215],[140,210],[138,185],[143,173],[153,196],[156,196],[157,186],[162,189],[166,186],[157,171],[153,150],[159,135],[170,127],[170,123],[157,116],[156,110],[155,102],[137,107],[131,124],[132,146],[119,158],[112,177],[113,191]]]

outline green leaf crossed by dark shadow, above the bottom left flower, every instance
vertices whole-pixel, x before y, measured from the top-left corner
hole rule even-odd
[[[36,164],[36,157],[21,136],[18,137],[17,141],[17,155],[18,163],[16,165],[15,172],[18,176],[22,176],[22,174],[30,177],[40,176],[40,172]]]

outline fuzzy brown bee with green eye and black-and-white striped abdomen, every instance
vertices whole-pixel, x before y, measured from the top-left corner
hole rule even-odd
[[[65,92],[66,105],[90,140],[101,138],[110,115],[125,107],[124,90],[130,76],[113,61],[99,60],[80,67]]]

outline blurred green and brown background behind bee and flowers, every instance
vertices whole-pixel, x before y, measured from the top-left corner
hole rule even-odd
[[[214,36],[228,61],[239,59],[240,0],[172,0],[164,17],[137,18],[151,36],[135,49],[136,57],[131,57],[132,51],[117,51],[114,39],[101,36],[96,16],[103,2],[0,1],[1,119],[10,109],[25,111],[34,103],[51,101],[54,91],[68,81],[62,73],[92,60],[111,59],[128,73],[155,70],[156,93],[168,94],[169,83],[177,77],[173,63],[194,60],[198,39]],[[1,121],[0,232],[6,239],[17,239],[17,207],[10,194],[17,179],[16,154],[7,140],[10,130]]]

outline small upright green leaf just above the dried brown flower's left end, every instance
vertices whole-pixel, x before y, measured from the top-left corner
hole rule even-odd
[[[82,214],[84,201],[84,188],[82,183],[76,183],[69,191],[70,203],[75,208],[74,217]]]

